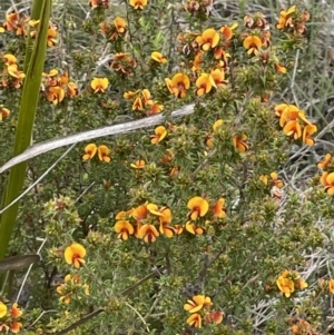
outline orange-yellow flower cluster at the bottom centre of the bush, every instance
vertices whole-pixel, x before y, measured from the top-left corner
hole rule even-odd
[[[205,323],[219,324],[223,322],[224,313],[210,311],[213,302],[205,295],[195,295],[193,299],[187,300],[184,309],[191,315],[187,318],[187,323],[196,328],[202,328],[203,321]]]

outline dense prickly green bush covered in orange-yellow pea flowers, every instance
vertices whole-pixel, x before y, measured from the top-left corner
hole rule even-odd
[[[1,278],[0,332],[326,334],[334,164],[294,88],[310,9],[222,23],[209,0],[108,2],[55,1],[31,144],[141,124],[55,166],[66,148],[28,160],[7,256],[41,259],[2,260],[20,269]],[[42,29],[20,9],[1,29],[1,165]],[[4,208],[7,169],[0,180]]]

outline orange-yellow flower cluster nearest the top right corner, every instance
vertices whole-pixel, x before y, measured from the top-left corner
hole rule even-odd
[[[305,35],[305,23],[310,20],[310,13],[307,11],[301,12],[296,6],[292,6],[287,10],[281,10],[278,22],[276,28],[286,32],[293,32],[297,35]]]

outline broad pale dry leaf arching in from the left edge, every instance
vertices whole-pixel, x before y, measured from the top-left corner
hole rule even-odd
[[[185,116],[189,116],[194,114],[195,104],[186,105],[174,112],[171,112],[170,118],[181,118]],[[0,167],[0,174],[4,173],[9,168],[26,161],[30,158],[35,158],[48,151],[66,147],[73,144],[79,144],[82,141],[96,139],[104,136],[110,135],[119,135],[119,134],[127,134],[137,129],[150,128],[153,126],[157,126],[163,124],[167,120],[167,118],[163,115],[155,115],[150,117],[143,118],[140,120],[124,122],[119,125],[112,125],[107,127],[101,127],[88,131],[82,131],[75,135],[65,136],[58,139],[50,139],[37,145],[29,147],[22,154],[11,158],[7,161],[2,167]]]

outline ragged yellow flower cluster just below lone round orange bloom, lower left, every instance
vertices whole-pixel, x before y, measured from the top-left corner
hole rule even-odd
[[[65,283],[57,286],[57,293],[60,294],[59,300],[68,305],[71,302],[73,295],[79,295],[84,290],[86,295],[89,295],[89,285],[81,284],[81,279],[78,275],[66,275]]]

